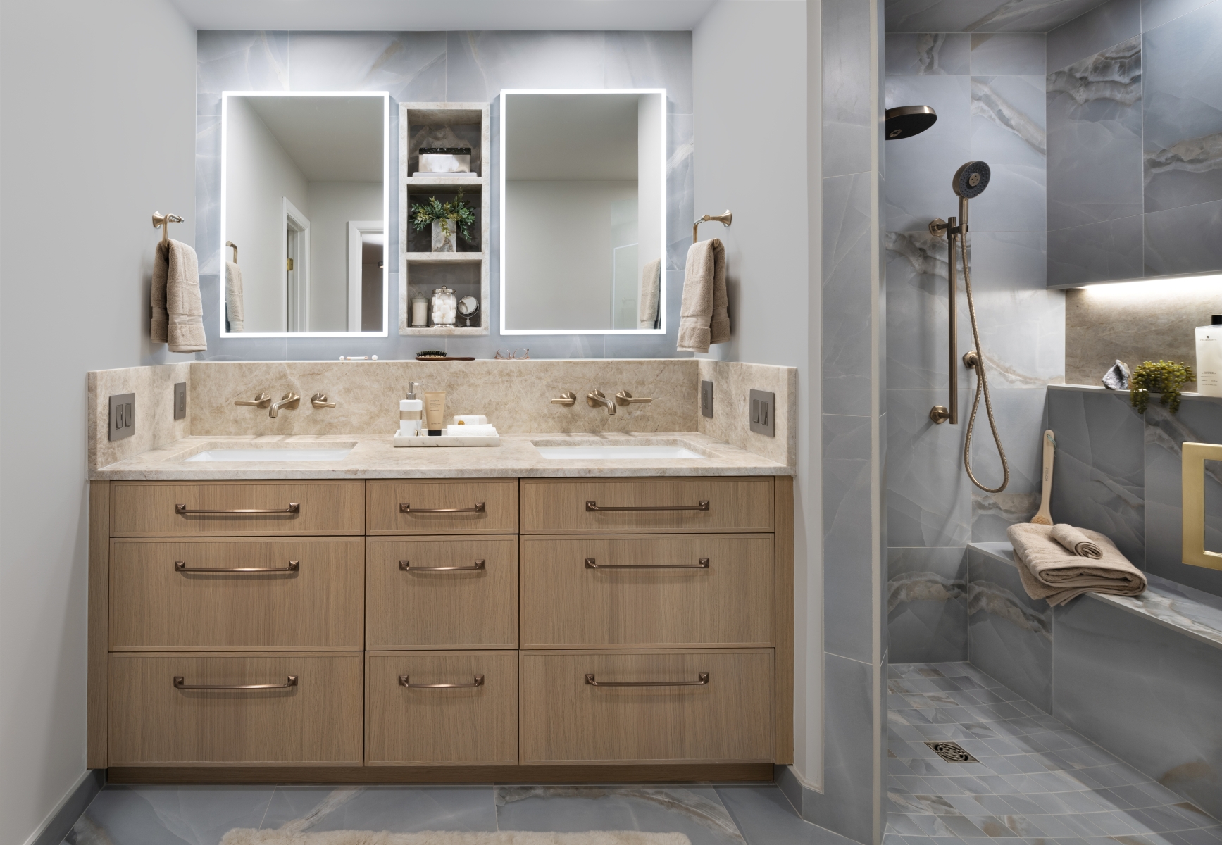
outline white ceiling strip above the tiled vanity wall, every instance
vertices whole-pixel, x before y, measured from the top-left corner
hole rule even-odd
[[[170,0],[198,29],[692,29],[716,0]]]

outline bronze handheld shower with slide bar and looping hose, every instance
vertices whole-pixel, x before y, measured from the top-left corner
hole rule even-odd
[[[949,370],[951,370],[951,407],[934,405],[929,412],[929,418],[941,425],[949,420],[951,425],[959,421],[959,379],[958,368],[958,285],[956,282],[956,264],[959,255],[963,256],[963,288],[968,294],[968,316],[971,319],[971,339],[975,349],[963,355],[963,365],[976,371],[976,396],[971,402],[971,414],[968,415],[968,436],[963,443],[963,468],[968,471],[968,477],[980,490],[986,493],[1000,493],[1009,484],[1009,463],[1006,460],[1006,449],[1001,444],[1001,435],[997,433],[997,422],[993,420],[992,399],[989,396],[989,381],[985,377],[984,355],[980,353],[980,330],[976,327],[976,306],[971,299],[971,267],[968,264],[968,201],[975,199],[989,187],[989,165],[984,161],[969,161],[959,167],[951,181],[951,188],[959,198],[959,217],[951,217],[948,221],[938,217],[929,225],[931,234],[947,238],[949,261],[947,263],[947,281],[949,289]],[[956,254],[958,243],[958,254]],[[989,427],[992,430],[993,443],[997,444],[997,455],[1001,458],[1002,480],[997,487],[986,487],[976,480],[971,471],[971,431],[976,424],[976,412],[980,409],[980,394],[985,397],[985,414],[989,416]]]

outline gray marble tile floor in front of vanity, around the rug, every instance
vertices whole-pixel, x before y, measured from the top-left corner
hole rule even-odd
[[[771,784],[693,786],[106,786],[65,845],[216,845],[232,828],[648,830],[692,845],[852,845]]]

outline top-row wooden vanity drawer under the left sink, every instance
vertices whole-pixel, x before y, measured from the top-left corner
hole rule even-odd
[[[116,481],[110,534],[364,534],[364,481]]]

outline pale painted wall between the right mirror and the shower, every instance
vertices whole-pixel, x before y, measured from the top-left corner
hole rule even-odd
[[[717,2],[692,32],[692,84],[695,216],[726,209],[734,214],[730,228],[700,227],[701,238],[726,244],[733,333],[709,357],[798,368],[794,767],[818,782],[822,769],[819,238],[809,234],[818,232],[818,220],[808,211],[808,149],[818,162],[819,138],[808,129],[807,4]],[[759,160],[749,145],[760,142],[769,144],[764,159],[776,171],[766,177],[747,167]]]

